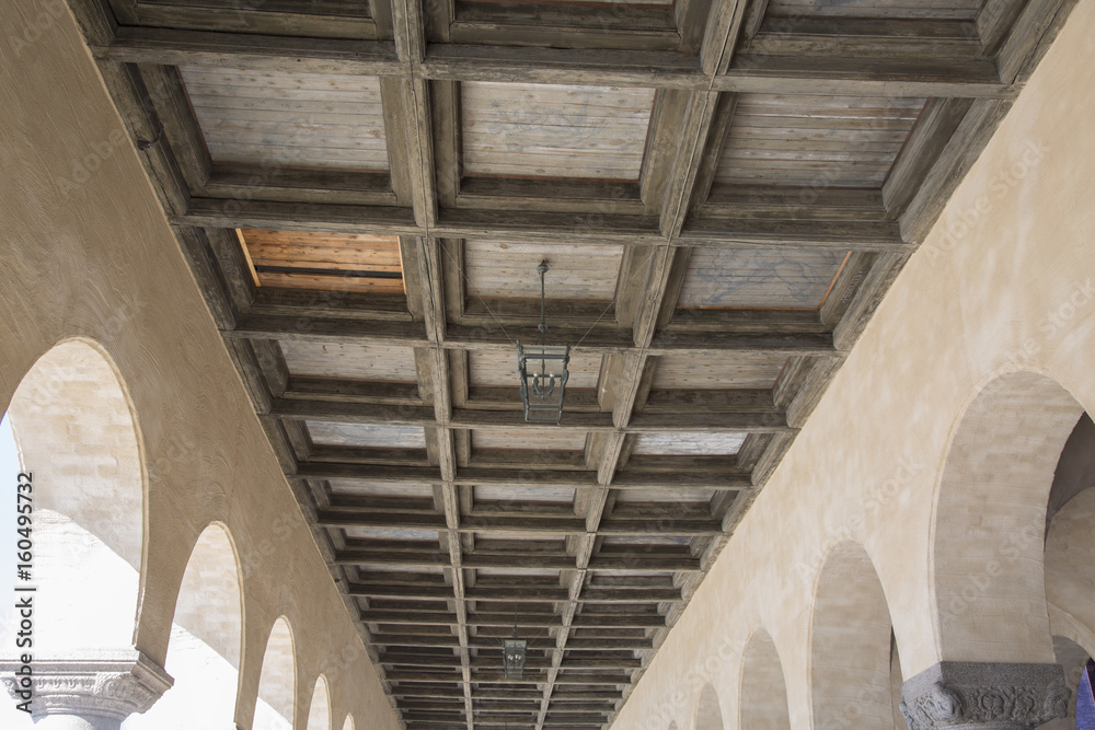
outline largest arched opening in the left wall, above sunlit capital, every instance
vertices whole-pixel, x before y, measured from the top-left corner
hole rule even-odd
[[[41,656],[134,646],[146,535],[146,468],[125,383],[97,344],[60,343],[8,406],[33,491]],[[88,596],[94,595],[94,601]]]

